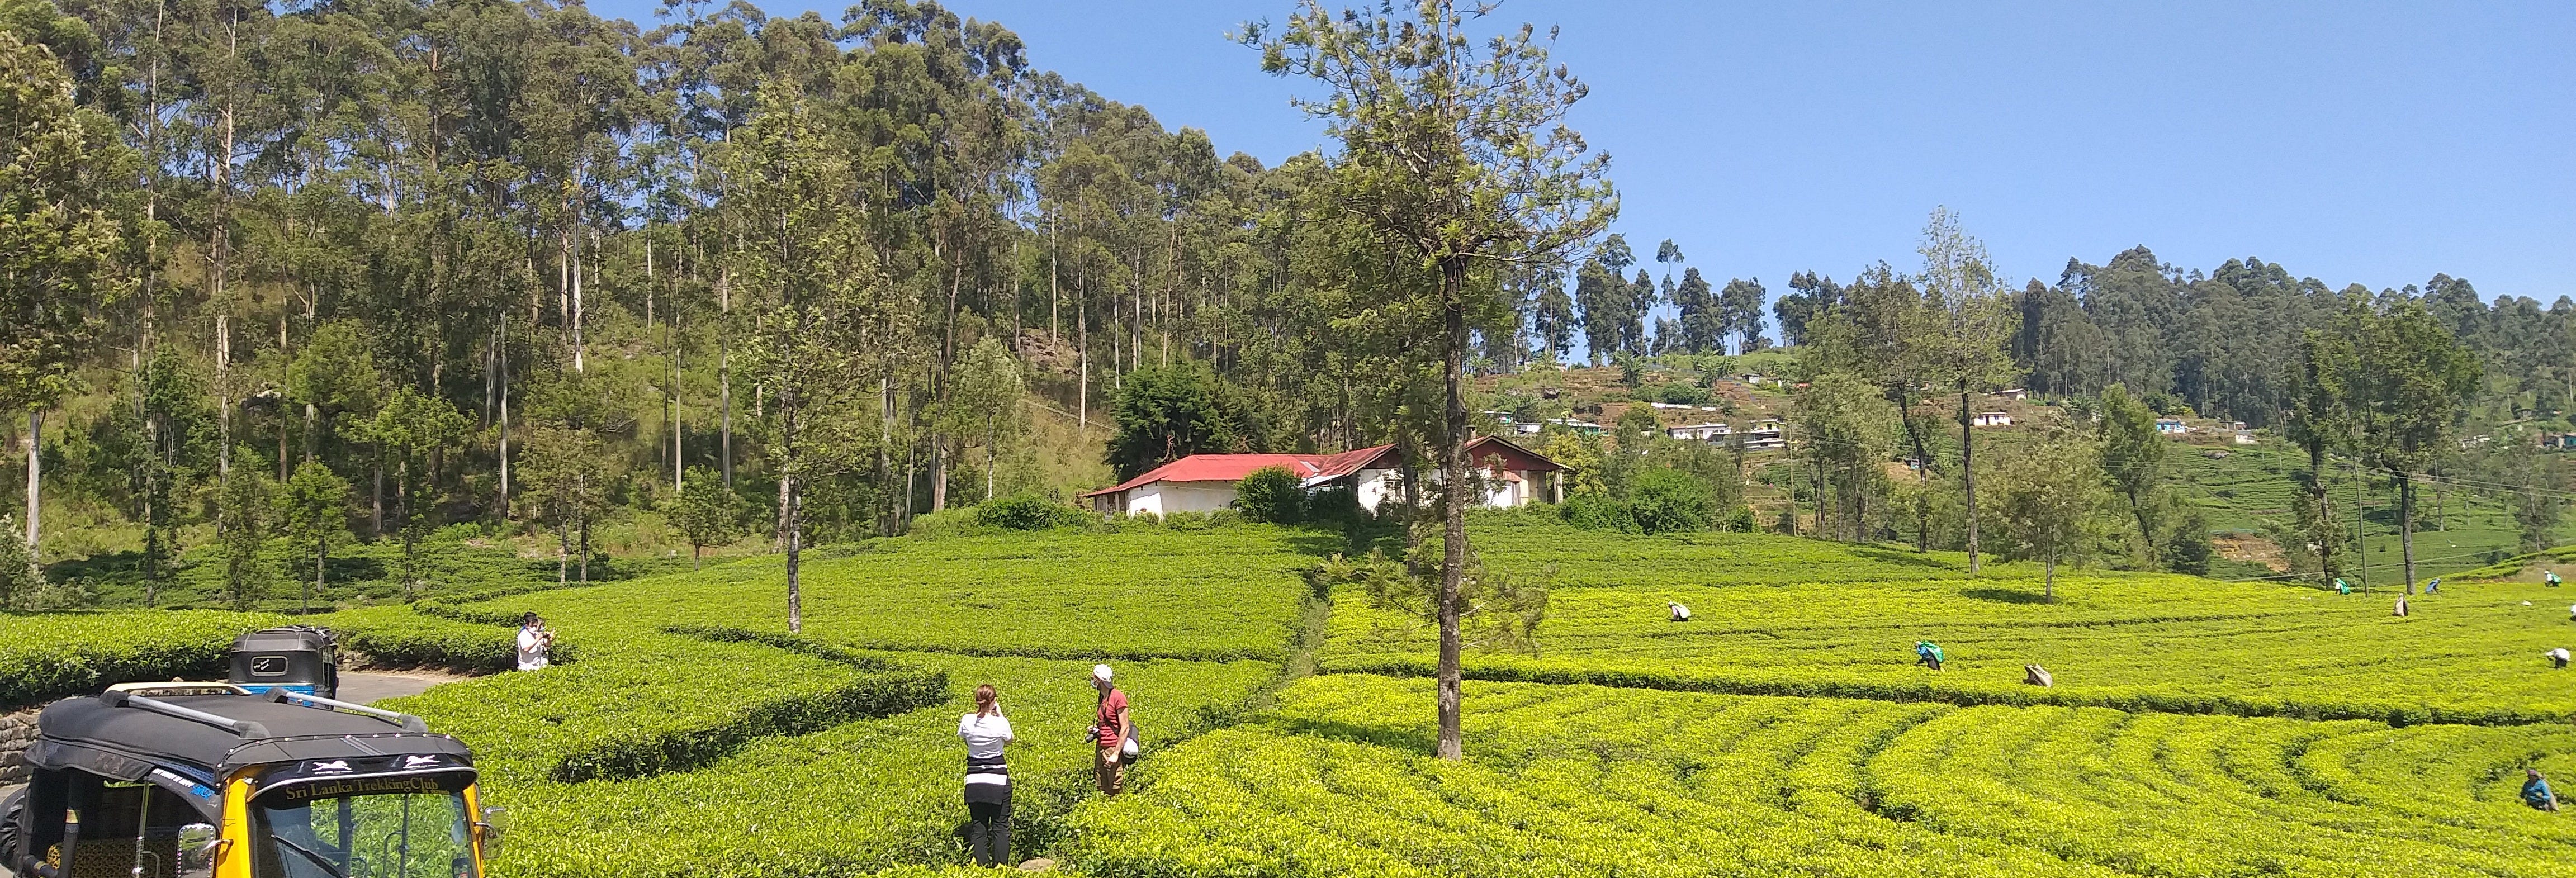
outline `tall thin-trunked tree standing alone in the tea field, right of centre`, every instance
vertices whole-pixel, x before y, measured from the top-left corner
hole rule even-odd
[[[1461,381],[1468,314],[1492,306],[1492,291],[1479,296],[1468,273],[1476,263],[1558,260],[1600,234],[1618,216],[1610,160],[1564,124],[1584,85],[1548,62],[1530,26],[1492,36],[1479,51],[1466,18],[1445,0],[1422,3],[1414,15],[1391,8],[1337,15],[1309,0],[1285,28],[1247,26],[1242,36],[1262,49],[1262,70],[1329,88],[1327,98],[1298,100],[1298,108],[1327,118],[1342,142],[1332,165],[1337,206],[1365,219],[1388,255],[1440,276],[1425,309],[1440,322],[1445,397],[1437,443],[1445,533],[1432,600],[1440,618],[1437,754],[1458,760],[1458,597],[1468,554]]]

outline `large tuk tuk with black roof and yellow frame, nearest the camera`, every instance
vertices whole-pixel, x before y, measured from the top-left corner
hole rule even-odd
[[[57,700],[26,765],[0,803],[13,878],[482,878],[500,845],[464,742],[283,687]]]

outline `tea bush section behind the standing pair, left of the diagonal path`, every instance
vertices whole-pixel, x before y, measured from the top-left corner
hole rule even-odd
[[[804,566],[801,636],[775,559],[466,595],[417,618],[541,613],[577,662],[392,705],[474,744],[507,875],[863,875],[963,857],[956,724],[992,682],[1036,855],[1090,788],[1092,662],[1157,752],[1226,726],[1280,675],[1303,564],[1265,528],[886,541]]]

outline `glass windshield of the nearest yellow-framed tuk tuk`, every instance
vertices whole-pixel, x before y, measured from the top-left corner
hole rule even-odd
[[[479,878],[464,790],[263,796],[250,834],[255,878]]]

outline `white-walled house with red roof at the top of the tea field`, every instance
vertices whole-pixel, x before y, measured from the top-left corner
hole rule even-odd
[[[1504,438],[1484,435],[1466,445],[1468,466],[1486,487],[1489,507],[1520,507],[1561,500],[1556,461]],[[1347,487],[1363,510],[1378,510],[1404,492],[1404,451],[1396,445],[1342,453],[1193,453],[1157,466],[1136,479],[1082,494],[1100,515],[1213,512],[1234,502],[1234,484],[1255,469],[1283,466],[1309,492]],[[1425,474],[1437,484],[1440,474]]]

